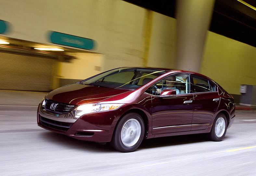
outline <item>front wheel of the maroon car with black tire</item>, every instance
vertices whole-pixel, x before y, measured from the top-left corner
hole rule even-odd
[[[121,152],[133,152],[144,137],[145,125],[137,113],[128,113],[118,122],[110,145]]]

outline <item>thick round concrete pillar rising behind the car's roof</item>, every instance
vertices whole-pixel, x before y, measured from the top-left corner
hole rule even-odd
[[[200,71],[214,0],[178,0],[176,68]]]

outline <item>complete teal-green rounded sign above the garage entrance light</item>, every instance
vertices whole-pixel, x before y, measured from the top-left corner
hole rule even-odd
[[[50,31],[50,41],[53,44],[60,44],[87,50],[92,50],[95,46],[95,42],[92,39],[87,39],[55,31]]]

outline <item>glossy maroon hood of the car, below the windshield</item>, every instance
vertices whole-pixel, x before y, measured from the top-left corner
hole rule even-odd
[[[130,90],[121,90],[74,83],[51,91],[49,94],[47,94],[46,98],[62,103],[82,105],[85,103],[98,103],[107,98],[128,91]]]

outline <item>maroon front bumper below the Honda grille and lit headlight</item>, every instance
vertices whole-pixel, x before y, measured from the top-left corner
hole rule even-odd
[[[84,141],[110,142],[115,125],[124,109],[85,114],[75,119],[75,110],[54,114],[38,106],[38,126]]]

